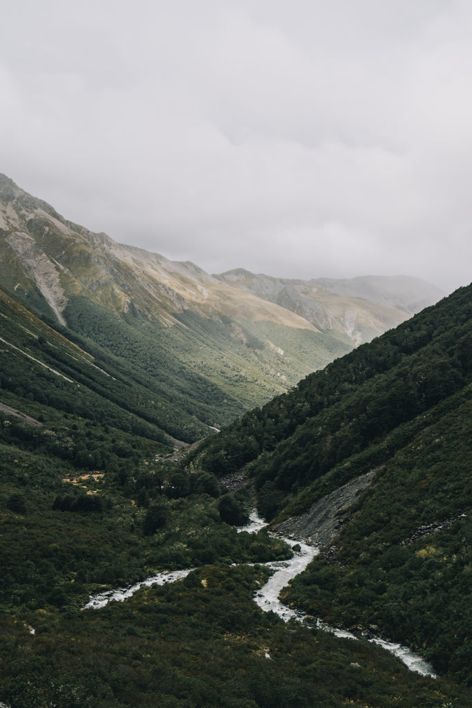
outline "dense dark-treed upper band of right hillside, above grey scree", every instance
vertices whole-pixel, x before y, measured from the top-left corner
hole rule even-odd
[[[266,484],[280,492],[282,509],[328,472],[337,470],[339,484],[385,462],[422,425],[420,413],[471,381],[471,290],[457,290],[246,413],[202,444],[197,464],[224,476],[251,463],[261,510],[273,517],[277,507],[264,508]]]

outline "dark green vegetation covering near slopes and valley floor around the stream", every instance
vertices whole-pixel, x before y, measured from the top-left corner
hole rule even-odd
[[[173,431],[207,433],[188,408],[192,380],[166,399],[125,321],[113,338],[88,312],[72,333],[3,292],[0,702],[472,706],[471,302],[462,288],[180,456]],[[262,564],[292,554],[265,530],[236,530],[253,504],[275,525],[372,467],[349,523],[284,600],[377,627],[429,658],[437,679],[253,602],[271,573]],[[221,479],[241,468],[248,484],[231,493]],[[181,568],[195,570],[81,609],[92,593]]]

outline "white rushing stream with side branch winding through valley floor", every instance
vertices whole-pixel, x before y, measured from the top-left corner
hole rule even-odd
[[[265,521],[260,519],[258,515],[253,512],[250,516],[248,525],[241,527],[238,531],[257,533],[260,529],[263,529],[265,525]],[[264,610],[264,612],[270,612],[270,610],[272,610],[272,612],[276,612],[277,615],[285,620],[285,622],[288,622],[289,619],[297,619],[298,622],[304,622],[306,618],[306,620],[309,620],[308,626],[312,624],[313,626],[318,627],[318,629],[323,629],[326,632],[330,632],[331,634],[335,634],[335,636],[343,637],[345,639],[358,639],[355,634],[347,632],[345,629],[335,629],[335,627],[330,627],[328,624],[321,622],[320,619],[309,618],[302,612],[292,610],[290,607],[287,607],[287,605],[283,605],[280,602],[278,599],[280,590],[287,586],[292,578],[304,571],[309,562],[319,552],[316,546],[309,546],[300,541],[294,541],[294,539],[283,540],[291,548],[293,548],[294,545],[299,546],[300,550],[294,551],[293,558],[287,561],[270,561],[269,563],[261,564],[269,566],[275,572],[272,576],[270,576],[267,583],[265,583],[265,585],[263,585],[262,588],[259,588],[257,593],[255,593],[255,603],[257,603],[261,610]],[[149,588],[153,585],[166,585],[166,583],[174,583],[175,581],[181,580],[182,578],[185,578],[185,576],[188,576],[188,573],[191,573],[193,570],[195,570],[195,568],[188,568],[180,571],[161,571],[156,573],[154,576],[146,578],[146,580],[140,583],[135,583],[134,585],[129,586],[128,588],[106,590],[103,593],[91,595],[88,603],[84,605],[82,609],[86,610],[90,608],[93,610],[98,610],[100,607],[105,607],[105,605],[113,600],[115,600],[115,602],[122,602],[123,600],[130,598],[137,592],[137,590],[139,590],[139,588]],[[386,641],[386,639],[382,639],[381,637],[372,636],[372,634],[369,634],[366,638],[368,641],[372,641],[374,644],[379,644],[379,646],[383,646],[384,649],[390,651],[395,656],[398,656],[398,658],[400,658],[410,670],[417,671],[424,676],[436,678],[436,674],[434,673],[431,664],[418,656],[418,654],[410,651],[408,647],[402,646],[401,644],[395,644],[391,641]]]

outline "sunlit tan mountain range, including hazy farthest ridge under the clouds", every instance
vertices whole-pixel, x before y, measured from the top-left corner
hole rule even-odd
[[[303,281],[242,269],[209,275],[74,224],[6,176],[0,236],[0,284],[22,302],[102,344],[84,309],[152,332],[185,367],[217,379],[237,399],[238,413],[442,296],[429,283],[400,276]]]

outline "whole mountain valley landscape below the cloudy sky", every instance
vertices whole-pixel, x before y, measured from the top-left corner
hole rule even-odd
[[[208,275],[0,203],[0,702],[472,707],[472,286]]]

